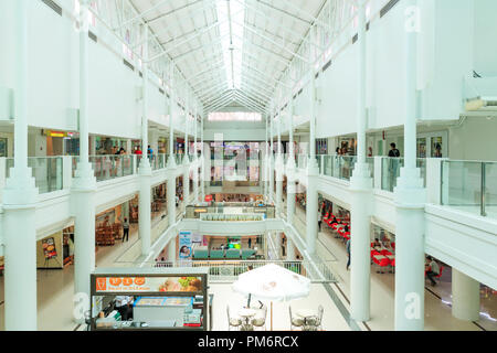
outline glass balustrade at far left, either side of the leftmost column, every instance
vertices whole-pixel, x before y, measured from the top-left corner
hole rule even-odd
[[[10,176],[13,158],[6,159],[6,176]],[[62,190],[62,157],[29,157],[28,167],[32,170],[34,183],[40,194]]]

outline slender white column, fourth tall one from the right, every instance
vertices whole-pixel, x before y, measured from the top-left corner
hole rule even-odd
[[[292,95],[292,90],[289,92],[288,119],[289,119],[289,127],[288,127],[289,148],[288,148],[288,161],[286,162],[286,220],[289,224],[293,224],[295,215],[295,194],[297,193],[297,191],[295,183],[296,165],[295,165],[295,149],[294,149],[294,97]]]

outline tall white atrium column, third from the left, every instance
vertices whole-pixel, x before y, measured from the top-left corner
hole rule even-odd
[[[148,28],[144,25],[144,64],[142,64],[142,111],[141,111],[141,150],[144,157],[140,160],[138,170],[140,193],[138,199],[138,234],[141,239],[141,255],[150,253],[150,233],[151,233],[151,168],[148,160]]]

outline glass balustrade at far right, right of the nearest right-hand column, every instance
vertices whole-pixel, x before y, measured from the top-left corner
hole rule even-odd
[[[497,218],[497,162],[442,161],[441,204]]]

